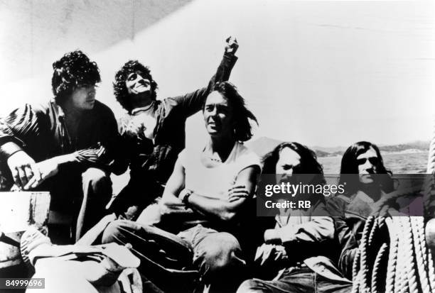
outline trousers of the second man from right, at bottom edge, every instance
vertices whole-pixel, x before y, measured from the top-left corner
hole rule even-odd
[[[237,293],[345,293],[350,292],[350,282],[329,280],[308,267],[291,267],[278,280],[246,280]]]

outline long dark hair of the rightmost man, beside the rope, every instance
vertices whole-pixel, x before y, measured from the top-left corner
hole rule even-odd
[[[358,141],[358,143],[354,143],[350,145],[350,147],[343,154],[343,158],[341,159],[341,167],[340,167],[340,179],[338,180],[338,184],[344,184],[346,182],[346,193],[352,194],[358,190],[358,176],[349,176],[351,174],[358,175],[358,160],[357,157],[372,148],[375,150],[378,164],[377,164],[377,174],[385,175],[378,176],[380,179],[380,187],[384,192],[392,192],[394,188],[394,182],[391,177],[392,172],[387,170],[384,165],[384,160],[382,159],[382,155],[380,153],[377,145],[370,143],[368,141]],[[382,177],[382,178],[381,178]]]

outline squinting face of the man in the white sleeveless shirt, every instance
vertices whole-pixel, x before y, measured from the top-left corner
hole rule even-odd
[[[204,106],[204,121],[210,136],[224,136],[232,130],[232,108],[219,92],[212,92]]]

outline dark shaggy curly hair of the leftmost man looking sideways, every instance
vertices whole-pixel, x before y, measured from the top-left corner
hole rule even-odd
[[[77,87],[95,85],[101,82],[97,63],[89,60],[80,50],[68,52],[53,63],[51,88],[56,102],[62,102]]]

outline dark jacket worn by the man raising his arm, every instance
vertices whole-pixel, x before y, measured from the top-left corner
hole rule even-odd
[[[228,80],[236,61],[237,57],[234,55],[225,54],[208,87],[183,96],[154,101],[150,109],[145,110],[146,114],[156,119],[154,141],[139,136],[131,138],[125,134],[129,121],[144,111],[132,111],[119,120],[119,131],[128,154],[124,167],[129,165],[132,180],[166,184],[178,153],[185,147],[186,119],[200,111],[208,94],[213,92],[216,82]]]

